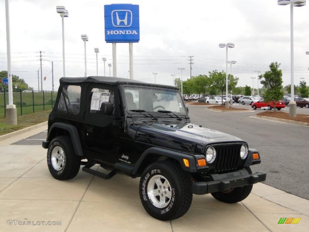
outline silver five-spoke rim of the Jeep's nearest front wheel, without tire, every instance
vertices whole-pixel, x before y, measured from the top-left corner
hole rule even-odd
[[[148,182],[147,194],[155,207],[164,208],[171,201],[171,185],[164,176],[155,175]]]

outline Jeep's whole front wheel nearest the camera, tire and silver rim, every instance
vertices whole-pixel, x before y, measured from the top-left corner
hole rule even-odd
[[[178,163],[158,161],[146,167],[139,183],[142,205],[162,221],[183,216],[192,203],[190,176]]]

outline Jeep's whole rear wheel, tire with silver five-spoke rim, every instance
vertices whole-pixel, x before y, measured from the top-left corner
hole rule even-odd
[[[80,168],[80,158],[75,154],[69,136],[57,136],[49,144],[47,165],[50,174],[58,180],[74,178]]]

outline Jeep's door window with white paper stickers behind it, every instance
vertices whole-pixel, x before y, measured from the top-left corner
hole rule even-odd
[[[115,113],[115,96],[112,90],[92,88],[90,92],[90,99],[89,113],[99,113],[103,102],[111,102],[113,104],[113,114]]]

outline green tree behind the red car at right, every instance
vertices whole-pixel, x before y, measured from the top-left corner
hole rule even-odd
[[[280,63],[271,62],[269,65],[270,71],[266,71],[264,74],[259,76],[261,84],[266,88],[263,98],[265,102],[273,101],[273,110],[276,111],[276,101],[280,101],[283,97],[282,88],[282,70],[278,69]]]

